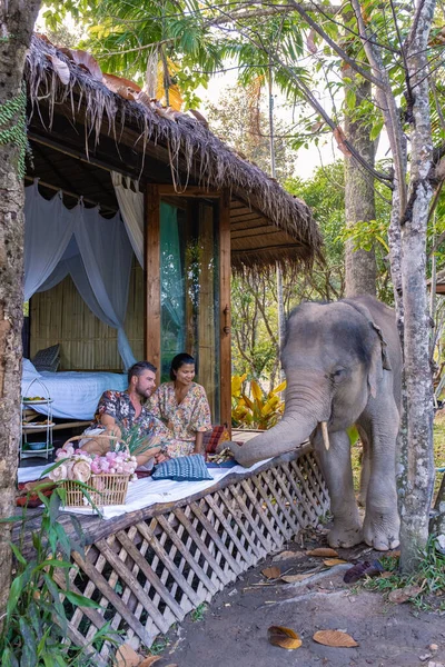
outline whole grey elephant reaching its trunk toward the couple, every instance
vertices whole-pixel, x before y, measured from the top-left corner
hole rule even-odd
[[[398,545],[396,440],[402,391],[402,350],[394,310],[373,297],[305,302],[290,313],[281,352],[285,412],[270,430],[230,444],[249,467],[300,446],[308,438],[319,461],[334,516],[332,547],[360,541],[378,550]],[[360,525],[347,428],[365,446]]]

